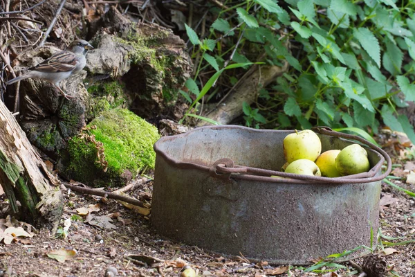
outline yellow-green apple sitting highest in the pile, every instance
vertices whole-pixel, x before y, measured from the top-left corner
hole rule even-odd
[[[308,159],[315,161],[322,152],[322,143],[320,138],[311,130],[288,134],[283,143],[284,156],[288,163],[299,159]]]

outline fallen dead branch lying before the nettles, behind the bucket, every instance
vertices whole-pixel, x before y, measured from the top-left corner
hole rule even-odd
[[[288,69],[288,62],[284,66],[261,66],[255,64],[243,75],[237,85],[230,91],[214,111],[206,117],[215,120],[220,124],[230,124],[232,120],[242,114],[243,102],[250,105],[255,101],[259,87],[266,87],[273,82],[277,76],[282,75]],[[206,125],[205,121],[199,125]]]

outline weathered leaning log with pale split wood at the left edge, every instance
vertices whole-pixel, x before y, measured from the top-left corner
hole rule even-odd
[[[62,215],[59,181],[33,149],[17,120],[0,101],[0,184],[13,213],[55,231]],[[20,205],[18,205],[18,203]]]

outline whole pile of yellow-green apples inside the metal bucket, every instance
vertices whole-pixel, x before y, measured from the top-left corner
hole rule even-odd
[[[311,130],[288,134],[284,142],[286,164],[282,170],[300,175],[340,177],[367,172],[367,152],[359,144],[322,153],[320,138]]]

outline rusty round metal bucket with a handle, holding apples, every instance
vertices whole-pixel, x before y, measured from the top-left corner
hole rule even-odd
[[[222,125],[163,137],[154,145],[152,225],[173,240],[282,265],[308,265],[370,247],[371,230],[378,229],[380,180],[391,160],[358,136],[314,130],[323,151],[354,143],[347,139],[366,145],[371,170],[338,178],[278,172],[285,163],[282,141],[293,131]],[[373,243],[374,249],[376,238]]]

